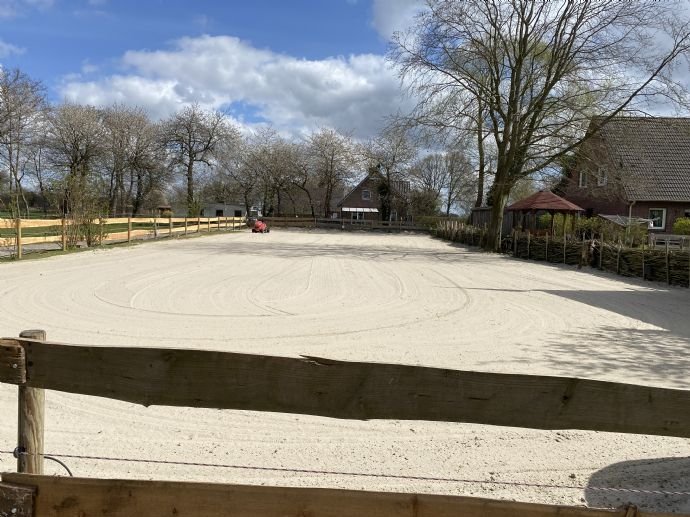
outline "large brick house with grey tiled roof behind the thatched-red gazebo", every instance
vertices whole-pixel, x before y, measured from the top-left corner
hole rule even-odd
[[[582,145],[559,190],[586,216],[650,219],[651,232],[672,233],[690,217],[690,118],[612,119]]]

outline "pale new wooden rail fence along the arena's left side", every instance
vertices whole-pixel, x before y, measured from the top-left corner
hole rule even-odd
[[[236,230],[244,217],[119,217],[91,223],[99,242],[131,242],[190,233]],[[74,223],[70,219],[0,219],[0,247],[14,248],[18,259],[24,246],[55,243],[66,250]],[[40,230],[42,229],[42,230]]]

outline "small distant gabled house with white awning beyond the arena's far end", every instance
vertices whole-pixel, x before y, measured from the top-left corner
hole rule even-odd
[[[384,178],[378,171],[370,171],[338,203],[338,211],[342,219],[351,221],[380,221],[382,218],[381,186]],[[391,213],[388,220],[399,221],[407,219],[409,206],[410,182],[391,181]]]

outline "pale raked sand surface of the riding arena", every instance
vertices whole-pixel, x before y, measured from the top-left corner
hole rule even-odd
[[[274,230],[0,265],[0,334],[690,388],[690,291],[422,235]],[[612,408],[615,410],[615,408]],[[690,410],[690,408],[689,408]],[[66,460],[78,476],[463,494],[690,513],[690,441],[327,418],[47,394],[46,451],[343,474]],[[0,450],[16,389],[0,385]],[[0,470],[15,468],[0,454]],[[49,473],[62,473],[47,464]],[[456,481],[386,477],[419,476]],[[496,481],[498,484],[458,480]],[[571,485],[547,489],[507,483]]]

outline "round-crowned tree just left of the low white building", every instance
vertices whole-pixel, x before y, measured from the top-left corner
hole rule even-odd
[[[172,155],[173,166],[179,167],[187,183],[187,214],[197,216],[200,200],[196,195],[195,165],[211,166],[213,153],[221,135],[232,131],[220,112],[202,110],[197,104],[188,106],[163,123],[163,141]]]

